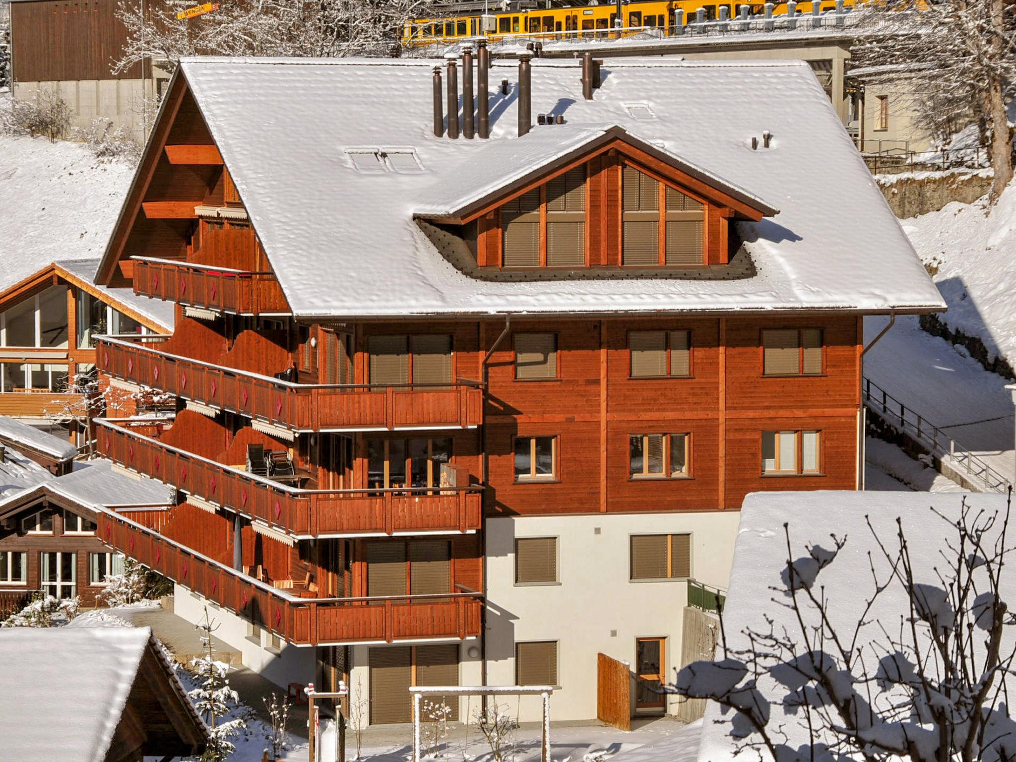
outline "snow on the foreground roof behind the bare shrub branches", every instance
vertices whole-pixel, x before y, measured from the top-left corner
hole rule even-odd
[[[780,593],[771,589],[785,589],[781,580],[787,559],[784,522],[788,524],[795,559],[808,556],[806,545],[818,545],[832,550],[831,533],[839,538],[846,537],[845,546],[832,563],[819,573],[818,581],[824,586],[823,596],[828,601],[829,621],[837,628],[840,637],[849,640],[874,589],[869,554],[880,581],[885,580],[889,573],[889,564],[882,557],[866,518],[871,518],[872,526],[890,551],[898,546],[896,519],[901,518],[909,558],[914,568],[915,583],[941,586],[942,582],[933,567],[938,565],[944,573],[947,571],[943,569],[944,562],[949,562],[950,552],[946,542],[956,543],[956,530],[944,519],[933,515],[931,508],[934,506],[950,520],[956,520],[963,499],[975,512],[986,511],[986,515],[990,516],[999,511],[1003,517],[1005,515],[1006,496],[986,493],[776,492],[749,495],[741,509],[729,591],[723,607],[723,629],[728,648],[735,651],[747,647],[744,635],[746,628],[768,632],[766,618],[774,621],[777,632],[785,627],[788,637],[801,642],[800,627],[793,611],[786,607]],[[986,533],[989,547],[993,545],[1001,524],[1000,519]],[[941,553],[946,554],[945,559]],[[1008,569],[1009,566],[1005,568]],[[1003,573],[1001,591],[1007,599],[1011,599],[1016,593],[1016,578],[1012,571]],[[815,617],[809,616],[813,613],[805,611],[806,622],[814,624],[812,620]],[[872,624],[862,630],[858,647],[867,649],[870,641],[885,643],[878,622],[893,630],[899,627],[900,617],[909,611],[908,599],[902,587],[898,584],[890,585],[867,613],[866,621]],[[1008,653],[1014,645],[1013,634],[1007,633],[1003,638],[1002,651]],[[802,644],[799,652],[805,650],[806,647]],[[722,658],[719,647],[716,658]],[[875,662],[877,661],[878,657],[875,658]],[[869,669],[874,673],[875,666],[871,662]],[[1010,681],[1008,688],[1011,694],[1016,688],[1016,679],[1010,678]],[[790,693],[786,685],[777,683],[771,677],[764,677],[758,688],[774,704],[770,724],[772,727],[781,725],[786,734],[786,741],[782,742],[780,738],[780,742],[793,749],[808,743],[807,732],[798,722],[800,714],[796,710],[791,711],[788,706],[780,706],[783,697]],[[699,762],[734,760],[734,753],[741,744],[729,736],[731,731],[731,715],[722,714],[718,705],[708,702]],[[744,754],[737,759],[743,757]],[[768,755],[764,758],[769,759]]]

